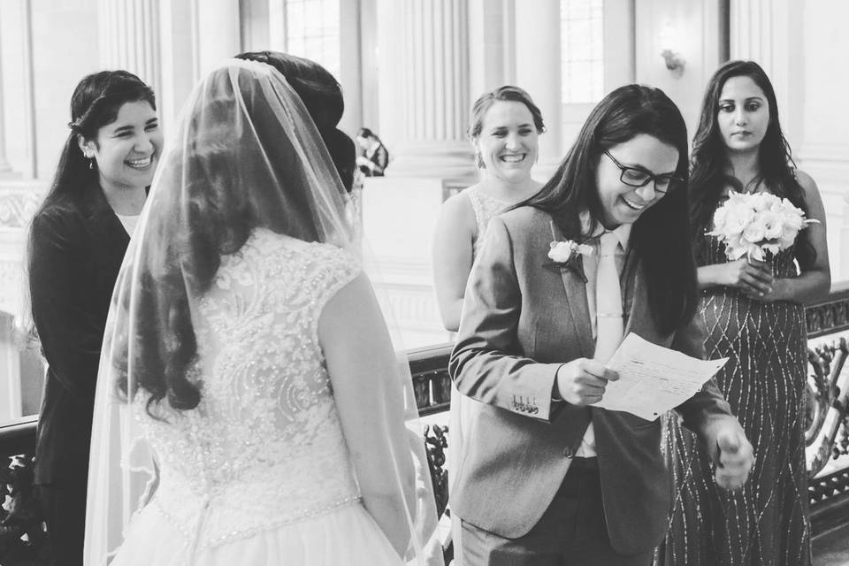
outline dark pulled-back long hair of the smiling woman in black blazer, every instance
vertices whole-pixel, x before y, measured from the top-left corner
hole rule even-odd
[[[153,90],[133,73],[126,71],[101,71],[83,77],[71,96],[70,132],[59,154],[59,161],[50,190],[44,196],[34,218],[49,213],[66,213],[91,198],[92,191],[101,191],[96,162],[89,161],[80,149],[80,138],[97,144],[97,132],[118,119],[118,112],[126,103],[144,101],[157,109]],[[33,224],[34,226],[34,224]],[[27,272],[32,272],[34,227],[27,238]],[[37,284],[31,281],[30,284]],[[28,287],[25,291],[29,296]],[[28,302],[28,300],[27,300]],[[37,339],[32,321],[32,305],[27,305],[23,324],[24,343]]]

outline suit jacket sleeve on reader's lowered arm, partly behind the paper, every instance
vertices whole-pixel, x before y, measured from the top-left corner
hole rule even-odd
[[[704,359],[704,335],[704,326],[700,324],[698,317],[694,317],[690,324],[677,331],[672,341],[672,349],[683,352],[687,356]],[[737,418],[731,414],[730,406],[713,378],[702,386],[699,393],[678,405],[676,410],[684,425],[699,437],[710,455],[715,453],[717,424],[730,420],[739,426]]]

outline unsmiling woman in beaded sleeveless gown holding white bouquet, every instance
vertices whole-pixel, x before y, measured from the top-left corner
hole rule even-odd
[[[702,105],[690,190],[705,349],[710,358],[730,358],[716,381],[754,446],[755,463],[740,492],[723,492],[692,435],[669,417],[674,508],[656,563],[811,563],[804,305],[828,293],[830,270],[822,199],[814,180],[792,168],[776,108],[767,75],[743,61],[715,73]],[[732,191],[786,197],[820,224],[802,230],[791,249],[769,262],[730,261],[706,232]]]

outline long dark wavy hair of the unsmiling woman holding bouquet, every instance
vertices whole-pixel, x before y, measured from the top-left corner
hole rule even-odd
[[[699,126],[692,141],[690,173],[690,214],[692,241],[698,241],[710,228],[714,210],[723,198],[726,186],[742,191],[739,180],[730,175],[728,149],[719,130],[719,97],[725,83],[732,77],[749,77],[761,88],[769,105],[769,124],[758,148],[759,181],[778,196],[790,200],[807,212],[805,194],[793,174],[790,145],[784,138],[778,120],[776,91],[761,65],[753,61],[730,61],[721,66],[707,83],[701,103]],[[808,253],[815,253],[809,249]]]

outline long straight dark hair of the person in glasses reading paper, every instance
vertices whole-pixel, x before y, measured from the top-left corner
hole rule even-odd
[[[596,173],[604,151],[640,134],[677,149],[675,174],[687,178],[687,127],[681,112],[660,88],[626,85],[593,108],[555,175],[516,207],[545,210],[567,238],[584,240],[603,218]],[[582,231],[581,210],[590,213],[589,233]],[[643,212],[631,229],[629,247],[642,260],[650,309],[658,328],[666,333],[688,323],[696,309],[687,210],[686,187],[675,187]]]

